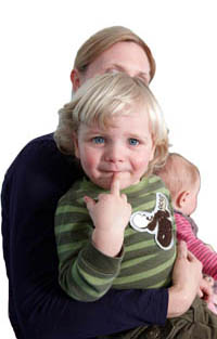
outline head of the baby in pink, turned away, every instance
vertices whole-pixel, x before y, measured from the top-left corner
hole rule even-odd
[[[195,165],[179,154],[170,153],[166,165],[155,172],[170,191],[174,208],[190,216],[196,209],[200,172]]]

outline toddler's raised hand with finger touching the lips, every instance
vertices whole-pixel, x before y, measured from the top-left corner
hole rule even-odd
[[[117,256],[131,214],[127,196],[119,193],[118,174],[113,177],[110,194],[100,194],[98,201],[86,196],[85,201],[95,226],[92,234],[94,246],[107,256]]]

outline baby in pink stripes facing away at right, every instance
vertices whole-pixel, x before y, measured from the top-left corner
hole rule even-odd
[[[201,184],[199,169],[181,155],[170,153],[166,165],[155,172],[170,191],[178,239],[184,240],[188,249],[203,263],[206,279],[214,287],[213,302],[209,303],[209,308],[217,313],[214,305],[217,304],[214,281],[217,281],[217,253],[196,237],[197,225],[190,217],[196,209]]]

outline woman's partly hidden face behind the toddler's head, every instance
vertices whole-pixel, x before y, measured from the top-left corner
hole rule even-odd
[[[76,70],[74,70],[76,71]],[[72,77],[74,90],[77,90],[87,79],[105,73],[124,71],[130,77],[139,77],[145,83],[150,82],[150,63],[143,49],[135,42],[117,42],[98,56],[84,75],[78,71]]]

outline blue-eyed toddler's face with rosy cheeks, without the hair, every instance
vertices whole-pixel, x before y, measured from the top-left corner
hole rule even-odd
[[[105,190],[114,173],[118,173],[120,190],[138,183],[154,154],[149,115],[141,105],[128,115],[114,116],[105,129],[81,123],[74,144],[86,174]]]

